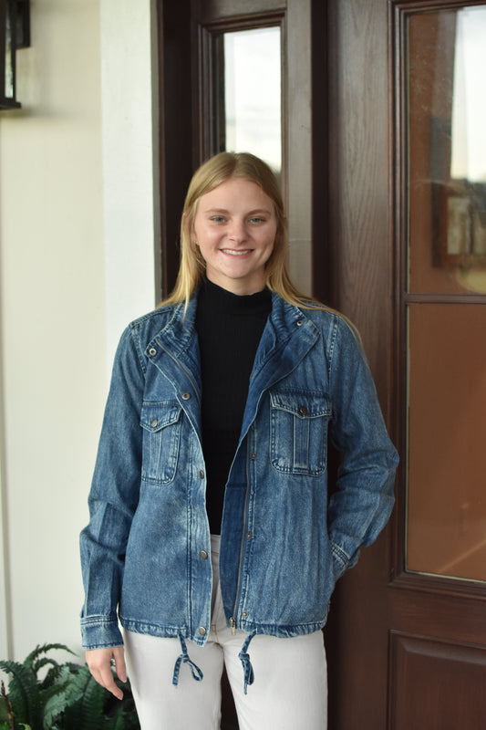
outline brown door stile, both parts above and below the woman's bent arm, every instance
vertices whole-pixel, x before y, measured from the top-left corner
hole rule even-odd
[[[394,314],[388,4],[331,0],[327,13],[331,304],[357,324],[388,416]],[[387,725],[390,534],[388,527],[362,551],[331,602],[326,642],[333,730]]]

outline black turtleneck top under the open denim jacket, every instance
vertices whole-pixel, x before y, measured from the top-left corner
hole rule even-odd
[[[202,451],[211,532],[221,532],[222,504],[238,445],[253,360],[272,310],[268,289],[239,297],[205,279],[196,329],[201,350]]]

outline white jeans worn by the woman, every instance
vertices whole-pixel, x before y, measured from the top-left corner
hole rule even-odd
[[[238,654],[248,634],[226,626],[218,579],[219,537],[212,537],[212,626],[204,647],[187,642],[191,662],[203,674],[195,682],[181,664],[179,639],[125,631],[125,651],[141,730],[218,730],[221,721],[223,664],[230,682],[240,730],[326,730],[327,671],[322,631],[291,639],[257,634],[248,652],[254,683],[243,693]]]

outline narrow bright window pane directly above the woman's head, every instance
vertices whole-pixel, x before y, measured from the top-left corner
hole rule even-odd
[[[232,31],[215,43],[219,151],[249,151],[282,168],[280,27]]]

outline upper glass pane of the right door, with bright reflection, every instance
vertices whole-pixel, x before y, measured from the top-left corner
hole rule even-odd
[[[408,21],[409,290],[486,291],[486,7]]]

